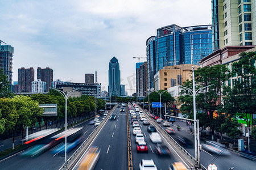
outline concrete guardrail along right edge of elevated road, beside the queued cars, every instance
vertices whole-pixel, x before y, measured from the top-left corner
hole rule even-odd
[[[139,106],[139,108],[141,108]],[[145,112],[142,108],[141,110],[143,111],[144,115],[146,115],[147,118],[150,118],[152,121],[152,124],[154,124],[154,126],[156,127],[156,129],[158,129],[158,131],[166,138],[168,139],[168,141],[172,142],[172,146],[174,146],[177,151],[179,151],[180,154],[183,155],[183,158],[185,158],[189,164],[191,164],[192,166],[194,166],[196,164],[196,159],[193,158],[193,156],[191,154],[189,154],[182,146],[180,146],[179,143],[177,143],[174,138],[171,137],[171,135],[169,135],[167,133],[166,130],[164,130],[159,124],[157,124],[148,114],[147,112]],[[207,170],[207,168],[205,168],[202,164],[200,165],[201,169]]]

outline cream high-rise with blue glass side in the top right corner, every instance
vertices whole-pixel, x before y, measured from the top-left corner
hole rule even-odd
[[[213,50],[255,45],[255,0],[212,0]]]

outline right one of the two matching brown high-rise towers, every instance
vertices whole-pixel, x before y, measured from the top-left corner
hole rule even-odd
[[[43,82],[46,82],[46,91],[48,92],[52,87],[53,70],[50,69],[49,67],[46,67],[46,69],[41,69],[41,67],[38,67],[37,79],[40,79]]]

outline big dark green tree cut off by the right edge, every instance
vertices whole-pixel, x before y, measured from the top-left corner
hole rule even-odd
[[[255,52],[241,53],[240,59],[232,65],[232,75],[230,82],[233,87],[224,87],[222,112],[233,117],[245,119],[250,127],[253,114],[256,112],[256,69]]]

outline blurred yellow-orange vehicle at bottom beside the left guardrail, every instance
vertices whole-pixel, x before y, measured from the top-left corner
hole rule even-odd
[[[98,162],[98,158],[100,157],[100,152],[101,150],[99,147],[91,147],[89,151],[85,154],[84,158],[82,158],[78,170],[94,169],[95,165]]]

